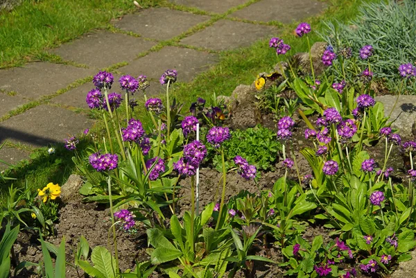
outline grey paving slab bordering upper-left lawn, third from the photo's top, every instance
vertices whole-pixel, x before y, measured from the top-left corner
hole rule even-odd
[[[102,69],[119,62],[131,62],[137,54],[148,51],[156,42],[141,37],[98,32],[54,49],[52,52],[65,60],[71,60],[90,67]]]

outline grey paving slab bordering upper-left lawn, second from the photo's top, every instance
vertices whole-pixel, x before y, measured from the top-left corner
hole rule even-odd
[[[114,26],[143,37],[169,40],[209,18],[207,15],[193,15],[180,10],[149,8],[133,15],[125,15],[121,21],[114,22]]]

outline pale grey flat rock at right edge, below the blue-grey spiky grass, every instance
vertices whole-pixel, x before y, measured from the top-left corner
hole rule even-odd
[[[375,100],[383,103],[385,116],[391,112],[388,122],[392,122],[392,128],[397,129],[402,137],[414,137],[412,125],[416,122],[416,96],[399,96],[396,106],[397,96],[376,96]]]

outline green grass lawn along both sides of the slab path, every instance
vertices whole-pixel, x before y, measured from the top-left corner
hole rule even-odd
[[[322,16],[307,21],[311,23],[314,30],[321,28],[322,20],[348,21],[356,15],[358,7],[365,1],[333,0],[331,1],[331,8],[324,12]],[[162,1],[157,0],[143,2],[142,6],[160,5],[162,3]],[[32,2],[24,3],[23,6],[10,14],[3,13],[0,15],[0,20],[5,22],[0,26],[0,49],[3,49],[0,55],[0,64],[5,67],[24,62],[26,55],[42,53],[42,49],[45,47],[55,46],[71,40],[91,28],[106,27],[112,17],[117,17],[132,10],[134,10],[134,6],[130,4],[130,1],[123,0],[44,0],[35,4]],[[34,15],[32,15],[32,12]],[[37,18],[41,16],[42,19]],[[28,21],[26,21],[27,17],[29,18],[28,21],[33,20],[33,26],[30,28],[28,27]],[[49,22],[50,26],[46,26],[46,22]],[[293,35],[296,25],[287,25],[282,29],[281,38],[292,47],[288,55],[304,52],[307,49],[306,40],[300,40]],[[6,33],[10,33],[12,38],[6,36]],[[5,37],[7,37],[6,40]],[[30,40],[31,37],[33,37],[33,40]],[[320,40],[315,33],[309,34],[309,38],[311,43]],[[14,41],[19,41],[21,44],[13,47],[12,42]],[[185,103],[185,109],[187,109],[198,96],[208,98],[214,92],[217,96],[230,95],[237,85],[250,84],[256,78],[257,73],[269,71],[279,59],[283,58],[277,58],[275,51],[268,48],[268,40],[257,42],[245,49],[225,51],[220,53],[219,64],[197,76],[193,82],[178,82],[175,84],[173,96],[181,103]],[[180,81],[180,72],[178,73],[178,81]],[[144,105],[144,103],[141,102],[139,105]],[[136,117],[141,119],[145,125],[150,123],[150,119],[142,109],[139,110]],[[100,123],[98,123],[96,129],[98,131],[101,129]],[[86,144],[83,146],[86,146]],[[81,155],[83,146],[80,146]],[[35,151],[31,164],[21,162],[11,171],[6,171],[6,175],[17,178],[14,181],[16,186],[23,186],[26,179],[28,184],[36,189],[51,181],[62,185],[74,171],[76,169],[71,162],[71,154],[61,146],[57,148],[57,153],[53,156],[47,155],[46,148]],[[8,184],[10,182],[1,185],[0,202],[6,196]]]

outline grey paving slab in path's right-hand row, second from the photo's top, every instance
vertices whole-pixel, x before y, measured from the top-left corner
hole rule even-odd
[[[250,46],[263,37],[276,34],[277,28],[221,19],[180,42],[191,46],[223,51]]]

